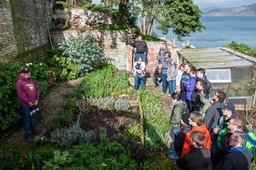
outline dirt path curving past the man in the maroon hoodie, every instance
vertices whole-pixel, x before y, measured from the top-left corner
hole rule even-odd
[[[41,113],[44,115],[42,123],[37,127],[37,129],[41,131],[40,135],[47,131],[48,124],[52,117],[61,111],[70,94],[79,87],[81,80],[82,78],[70,82],[61,82],[57,86],[50,88],[49,94],[39,101],[41,104]],[[37,138],[39,138],[40,135],[38,135]],[[24,126],[20,126],[20,129],[17,132],[12,134],[9,139],[5,139],[3,142],[11,142],[13,144],[26,143],[24,138]]]

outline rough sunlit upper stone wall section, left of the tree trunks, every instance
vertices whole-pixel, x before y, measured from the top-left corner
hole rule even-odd
[[[68,15],[65,10],[55,10],[55,14],[53,14],[54,28],[64,26],[67,18]],[[81,8],[71,9],[71,17],[69,20],[71,28],[94,29],[101,26],[113,25],[114,23],[115,19],[113,15],[108,13],[90,10],[84,11],[84,9]]]

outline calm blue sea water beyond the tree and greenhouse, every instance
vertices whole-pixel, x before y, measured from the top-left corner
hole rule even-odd
[[[183,37],[183,42],[189,42],[195,48],[217,48],[232,41],[245,42],[256,48],[256,16],[202,16],[201,23],[206,27],[202,32],[192,32],[191,37]],[[157,37],[166,37],[177,45],[177,36],[170,29],[167,35],[154,29]]]

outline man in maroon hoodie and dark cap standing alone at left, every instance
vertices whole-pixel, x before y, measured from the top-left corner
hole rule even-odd
[[[36,82],[30,77],[30,71],[27,68],[23,68],[20,71],[20,77],[16,82],[16,90],[20,99],[20,105],[22,108],[22,116],[25,126],[25,138],[28,143],[32,143],[32,134],[38,134],[30,121],[30,107],[38,105],[39,91]]]

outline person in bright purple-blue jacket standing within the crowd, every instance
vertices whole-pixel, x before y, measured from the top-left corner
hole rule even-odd
[[[188,109],[189,109],[189,112],[193,112],[194,111],[194,103],[193,101],[191,100],[191,94],[193,92],[193,90],[195,89],[195,82],[196,82],[196,71],[195,70],[191,70],[189,72],[189,76],[190,76],[190,79],[184,83],[184,86],[186,88],[186,103],[188,105]]]

